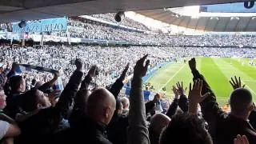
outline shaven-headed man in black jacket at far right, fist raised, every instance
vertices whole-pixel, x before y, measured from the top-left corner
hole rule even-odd
[[[196,69],[195,59],[189,62],[195,79],[202,80],[202,95],[210,93],[200,102],[203,118],[209,124],[210,134],[216,144],[233,144],[238,134],[246,135],[250,143],[256,143],[256,130],[247,121],[250,112],[254,110],[252,95],[249,90],[240,88],[230,95],[230,114],[218,107],[216,96],[210,89],[206,79]]]

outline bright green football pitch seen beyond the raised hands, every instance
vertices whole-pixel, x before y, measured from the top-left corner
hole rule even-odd
[[[246,88],[254,95],[254,102],[256,101],[256,67],[250,66],[250,59],[196,58],[196,61],[199,72],[204,75],[214,90],[220,106],[228,103],[233,90],[229,80],[234,75],[241,77],[242,83],[246,84]],[[147,82],[154,86],[155,92],[162,93],[162,88],[166,87],[166,95],[173,98],[171,87],[176,82],[183,82],[183,85],[188,87],[192,78],[188,63],[181,60],[163,66]],[[187,93],[188,90],[186,90]]]

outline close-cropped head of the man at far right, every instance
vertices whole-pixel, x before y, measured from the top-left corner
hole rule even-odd
[[[231,114],[247,119],[254,110],[253,97],[249,90],[239,88],[230,94]]]

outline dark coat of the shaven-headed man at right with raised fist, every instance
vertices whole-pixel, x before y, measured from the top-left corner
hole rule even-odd
[[[246,135],[250,143],[256,143],[256,130],[250,122],[236,118],[231,114],[226,114],[218,107],[216,96],[210,89],[206,79],[199,74],[198,70],[193,70],[194,79],[202,79],[202,94],[210,92],[204,101],[200,103],[202,116],[209,124],[209,131],[216,144],[233,144],[234,138],[238,134]]]

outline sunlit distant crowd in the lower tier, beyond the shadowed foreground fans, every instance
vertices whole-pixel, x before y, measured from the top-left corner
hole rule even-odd
[[[203,57],[239,57],[254,58],[256,50],[253,48],[214,48],[214,47],[102,47],[102,46],[37,46],[36,48],[26,46],[2,46],[1,65],[3,69],[10,69],[13,62],[29,64],[33,66],[47,67],[58,70],[62,81],[66,85],[70,78],[71,71],[75,66],[72,64],[75,58],[81,58],[85,62],[85,70],[90,70],[90,66],[98,66],[99,75],[95,82],[99,86],[107,86],[114,82],[118,74],[122,72],[122,66],[130,62],[134,66],[135,59],[142,54],[150,54],[151,67],[162,62],[175,62],[178,58],[189,58],[194,56]],[[133,55],[133,57],[130,57]],[[129,74],[132,73],[130,69]],[[26,73],[28,74],[28,73]],[[35,79],[46,82],[51,78],[48,74],[32,74],[27,79],[27,83],[32,83]],[[4,81],[1,81],[2,83]]]

